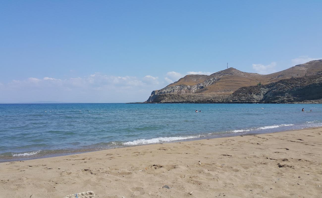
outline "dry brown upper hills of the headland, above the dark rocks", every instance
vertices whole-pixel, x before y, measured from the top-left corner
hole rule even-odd
[[[171,95],[173,101],[181,102],[182,98],[222,98],[227,97],[241,87],[255,86],[258,83],[263,85],[277,82],[283,79],[294,77],[304,77],[322,74],[322,60],[309,61],[299,64],[287,70],[279,71],[272,74],[262,75],[258,73],[248,73],[228,68],[226,70],[215,72],[211,75],[186,75],[178,81],[169,84],[161,90],[155,90],[151,93],[146,102],[161,102],[164,98],[161,95],[167,94],[184,94],[181,96]],[[155,100],[158,98],[157,100]],[[176,101],[180,98],[180,101]]]

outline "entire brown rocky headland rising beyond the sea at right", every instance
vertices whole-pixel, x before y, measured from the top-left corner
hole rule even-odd
[[[322,60],[262,75],[228,68],[186,75],[144,103],[322,103]]]

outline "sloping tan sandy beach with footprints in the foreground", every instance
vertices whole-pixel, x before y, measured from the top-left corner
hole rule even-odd
[[[5,162],[0,197],[320,198],[321,155],[322,128],[310,128]]]

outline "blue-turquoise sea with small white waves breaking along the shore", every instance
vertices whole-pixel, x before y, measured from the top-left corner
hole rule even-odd
[[[322,104],[0,104],[0,162],[315,126]]]

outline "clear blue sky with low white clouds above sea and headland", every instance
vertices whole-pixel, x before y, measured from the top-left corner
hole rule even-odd
[[[322,1],[0,0],[0,102],[138,102],[187,74],[322,59]]]

